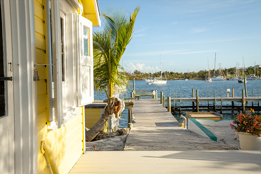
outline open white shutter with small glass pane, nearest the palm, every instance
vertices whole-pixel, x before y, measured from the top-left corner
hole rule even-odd
[[[79,14],[76,16],[76,75],[77,107],[92,103],[94,100],[92,22]]]

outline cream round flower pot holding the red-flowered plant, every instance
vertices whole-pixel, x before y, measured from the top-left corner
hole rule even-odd
[[[261,136],[252,135],[246,132],[238,132],[240,149],[242,150],[260,150],[261,151]]]

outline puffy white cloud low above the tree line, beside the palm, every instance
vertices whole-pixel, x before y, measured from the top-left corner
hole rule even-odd
[[[133,63],[126,63],[125,64],[125,67],[124,67],[127,71],[135,71],[135,70],[138,70],[138,71],[141,71],[141,72],[151,72],[151,66],[145,66],[144,63],[137,63],[137,64],[133,64]],[[158,68],[158,66],[155,66],[155,67],[152,67],[152,71],[153,72],[158,72],[160,71],[160,69]]]

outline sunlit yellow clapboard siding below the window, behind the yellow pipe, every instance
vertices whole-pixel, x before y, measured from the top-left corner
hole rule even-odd
[[[79,109],[81,111],[81,108]],[[59,129],[47,133],[47,126],[38,130],[38,173],[48,171],[44,154],[40,153],[40,141],[45,140],[54,155],[60,173],[68,173],[82,154],[82,115],[74,116]],[[40,127],[38,127],[40,128]],[[41,140],[40,140],[41,139]]]

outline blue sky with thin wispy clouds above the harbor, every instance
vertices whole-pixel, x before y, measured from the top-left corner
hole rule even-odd
[[[261,1],[98,0],[100,11],[121,6],[140,11],[134,35],[123,54],[124,67],[133,72],[187,72],[261,65]],[[103,25],[103,19],[102,19]],[[97,30],[94,27],[94,30]]]

